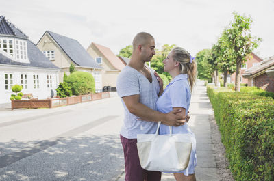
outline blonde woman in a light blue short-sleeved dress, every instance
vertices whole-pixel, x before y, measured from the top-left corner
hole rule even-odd
[[[176,47],[164,59],[164,71],[171,74],[173,80],[166,86],[164,92],[157,100],[157,109],[162,113],[169,113],[173,109],[181,109],[182,115],[188,113],[190,106],[191,91],[197,78],[197,64],[188,51]],[[160,84],[161,81],[160,81]],[[188,167],[180,172],[174,173],[177,181],[196,180],[194,168],[196,163],[196,139],[187,122],[182,126],[172,126],[172,133],[188,133],[192,136],[192,152]],[[169,134],[169,126],[160,125],[159,134]]]

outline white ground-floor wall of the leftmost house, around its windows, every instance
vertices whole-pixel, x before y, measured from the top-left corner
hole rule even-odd
[[[27,89],[23,89],[23,94],[32,93],[39,99],[51,97],[51,89],[56,89],[59,85],[58,70],[42,68],[26,68],[23,66],[0,66],[0,104],[10,102],[10,95],[14,94],[11,89],[5,89],[5,74],[12,74],[12,85],[21,85],[21,74],[27,74]],[[39,77],[39,88],[34,89],[33,76]],[[52,87],[47,87],[47,75],[52,77]]]

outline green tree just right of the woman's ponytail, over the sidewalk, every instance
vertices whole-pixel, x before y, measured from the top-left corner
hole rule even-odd
[[[210,49],[204,49],[199,51],[195,57],[198,66],[198,78],[207,80],[209,83],[212,82],[212,76],[214,74],[214,69],[209,63],[210,54]]]

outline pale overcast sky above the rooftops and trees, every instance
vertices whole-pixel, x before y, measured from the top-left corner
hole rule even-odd
[[[251,34],[263,41],[254,53],[274,55],[274,0],[0,0],[8,18],[35,44],[45,31],[91,42],[115,54],[132,44],[136,33],[151,33],[156,48],[176,44],[196,55],[211,48],[229,25],[232,12],[251,16]]]

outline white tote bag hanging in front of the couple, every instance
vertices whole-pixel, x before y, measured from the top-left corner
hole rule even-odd
[[[137,148],[140,164],[150,171],[177,172],[188,167],[192,150],[190,134],[159,135],[161,122],[158,122],[155,134],[137,135]]]

